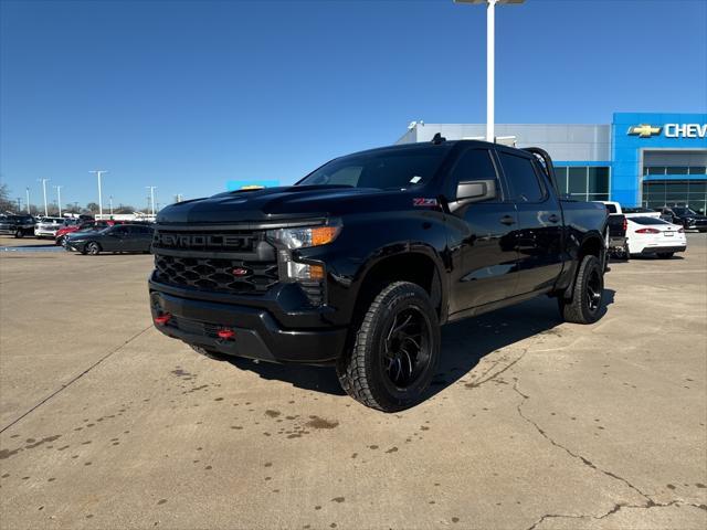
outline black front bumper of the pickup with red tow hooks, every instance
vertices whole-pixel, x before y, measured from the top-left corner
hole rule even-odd
[[[169,320],[156,325],[168,337],[228,356],[271,362],[333,364],[344,351],[347,329],[321,325],[318,328],[285,328],[263,307],[223,304],[168,294],[150,279],[152,318],[168,314]],[[238,300],[238,297],[234,298]],[[303,316],[310,321],[312,315]],[[220,338],[219,330],[231,330],[232,338]]]

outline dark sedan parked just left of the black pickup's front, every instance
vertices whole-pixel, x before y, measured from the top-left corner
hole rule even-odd
[[[146,224],[119,224],[103,230],[66,234],[64,248],[97,255],[102,252],[150,252],[152,227]]]

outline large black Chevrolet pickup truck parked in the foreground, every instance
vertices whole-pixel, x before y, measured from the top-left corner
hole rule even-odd
[[[172,204],[152,318],[209,356],[335,365],[356,400],[402,410],[424,396],[445,322],[540,295],[567,321],[600,318],[606,211],[556,189],[541,149],[437,135]]]

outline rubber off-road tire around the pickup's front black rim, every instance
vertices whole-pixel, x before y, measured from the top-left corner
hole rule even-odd
[[[424,356],[428,360],[410,388],[398,389],[384,379],[382,341],[391,319],[407,309],[416,311],[428,326]],[[383,412],[418,404],[425,395],[440,358],[440,324],[430,296],[416,284],[395,282],[384,287],[365,311],[352,327],[355,336],[349,340],[348,351],[337,362],[341,388],[356,401]]]

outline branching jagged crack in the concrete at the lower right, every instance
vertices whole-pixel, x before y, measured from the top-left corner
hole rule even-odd
[[[626,485],[629,488],[631,488],[633,491],[635,491],[636,494],[639,494],[641,497],[643,497],[645,499],[645,504],[643,505],[627,505],[627,504],[616,504],[613,506],[613,508],[611,510],[609,510],[606,513],[600,515],[600,516],[592,516],[592,515],[581,515],[581,516],[574,516],[574,515],[562,515],[562,513],[546,513],[545,516],[542,516],[540,519],[538,519],[532,526],[528,527],[528,530],[535,530],[539,524],[541,524],[546,519],[560,519],[560,518],[566,518],[566,519],[584,519],[584,518],[593,518],[593,519],[604,519],[609,516],[612,516],[614,513],[616,513],[619,510],[621,510],[622,508],[639,508],[639,509],[650,509],[650,508],[666,508],[669,506],[692,506],[694,508],[699,508],[701,510],[706,510],[707,511],[707,506],[706,505],[696,505],[694,502],[685,502],[683,500],[672,500],[671,502],[656,502],[654,501],[647,494],[644,494],[641,489],[639,489],[635,485],[631,484],[627,479],[620,477],[619,475],[616,475],[615,473],[612,471],[608,471],[605,469],[602,469],[600,467],[598,467],[594,463],[592,463],[591,460],[589,460],[588,458],[585,458],[584,456],[580,455],[579,453],[573,453],[570,449],[568,449],[567,447],[564,447],[563,445],[559,444],[558,442],[556,442],[555,439],[552,439],[546,432],[545,430],[542,430],[536,422],[534,422],[532,420],[530,420],[528,416],[526,416],[523,413],[523,405],[526,403],[526,401],[528,401],[530,399],[529,395],[524,394],[523,392],[520,392],[520,390],[518,390],[518,381],[516,380],[516,382],[513,385],[513,390],[516,391],[516,393],[518,395],[520,395],[520,398],[523,398],[523,400],[520,401],[520,403],[518,403],[518,405],[516,406],[516,410],[518,411],[518,415],[525,420],[527,423],[529,423],[530,425],[532,425],[536,431],[538,433],[540,433],[540,435],[547,439],[550,444],[552,444],[555,447],[558,447],[562,451],[564,451],[568,455],[570,455],[572,458],[580,460],[584,466],[590,467],[591,469],[594,469],[595,471],[599,471],[614,480],[619,480],[621,483],[623,483],[624,485]]]

